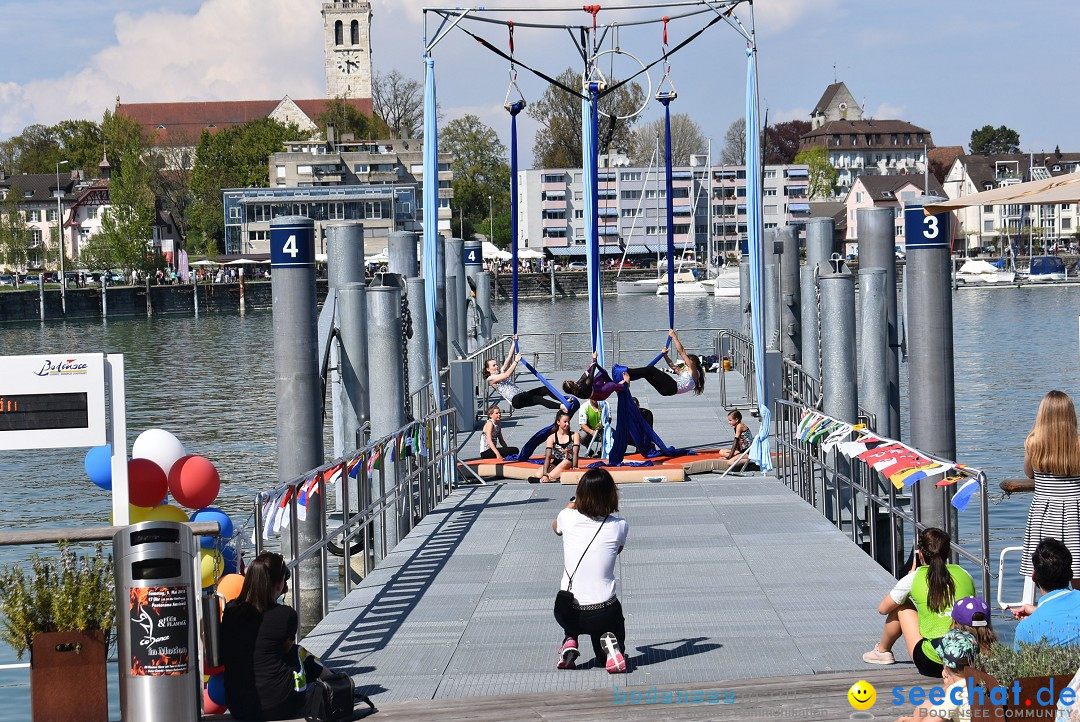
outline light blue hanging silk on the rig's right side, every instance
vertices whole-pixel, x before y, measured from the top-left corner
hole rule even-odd
[[[765,268],[765,226],[761,219],[761,137],[757,125],[757,77],[755,54],[746,47],[746,233],[750,249],[750,304],[751,331],[754,339],[754,386],[757,392],[757,411],[761,420],[757,436],[750,447],[750,458],[762,472],[772,471],[769,434],[772,431],[772,399],[765,383],[765,302],[762,285]]]

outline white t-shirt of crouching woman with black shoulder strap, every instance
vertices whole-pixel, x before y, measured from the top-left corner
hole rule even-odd
[[[630,526],[622,517],[612,515],[608,517],[599,534],[596,534],[602,521],[603,519],[586,517],[577,509],[563,509],[555,520],[556,531],[563,535],[563,580],[559,588],[569,588],[567,575],[573,573],[573,588],[570,590],[579,604],[598,604],[616,592],[615,559],[626,543],[626,530]],[[596,541],[589,546],[594,534]],[[582,553],[584,557],[581,556]],[[578,567],[576,573],[575,567]]]

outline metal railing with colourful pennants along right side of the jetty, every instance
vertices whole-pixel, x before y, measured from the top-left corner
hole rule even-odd
[[[918,520],[918,495],[897,493],[888,479],[863,461],[849,460],[835,449],[825,452],[820,444],[799,439],[799,420],[807,408],[792,401],[775,403],[777,475],[838,528],[850,525],[851,540],[866,548],[893,575],[901,576],[901,564],[907,551],[905,540],[914,540],[919,531],[928,528]],[[934,459],[931,454],[919,453]],[[971,467],[964,471],[972,475],[980,474],[978,469]],[[983,478],[985,480],[985,476]],[[978,486],[978,548],[972,549],[954,541],[953,553],[978,567],[982,595],[987,598],[991,588],[989,498],[986,483]],[[947,492],[943,489],[941,493],[945,495]],[[951,512],[953,507],[946,508]],[[954,514],[944,516],[944,531],[953,540],[959,540]],[[885,548],[881,548],[882,543]]]

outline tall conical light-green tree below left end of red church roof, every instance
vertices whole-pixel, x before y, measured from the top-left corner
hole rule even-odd
[[[109,206],[100,232],[91,236],[82,257],[93,268],[148,271],[153,268],[149,256],[154,222],[151,171],[138,140],[129,138],[124,146],[113,147],[113,154],[118,162],[112,164]]]

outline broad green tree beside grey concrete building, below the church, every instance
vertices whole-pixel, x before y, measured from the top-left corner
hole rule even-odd
[[[192,253],[214,256],[225,251],[221,190],[269,187],[270,154],[299,134],[296,125],[269,118],[218,133],[203,131],[191,169],[188,246]]]

